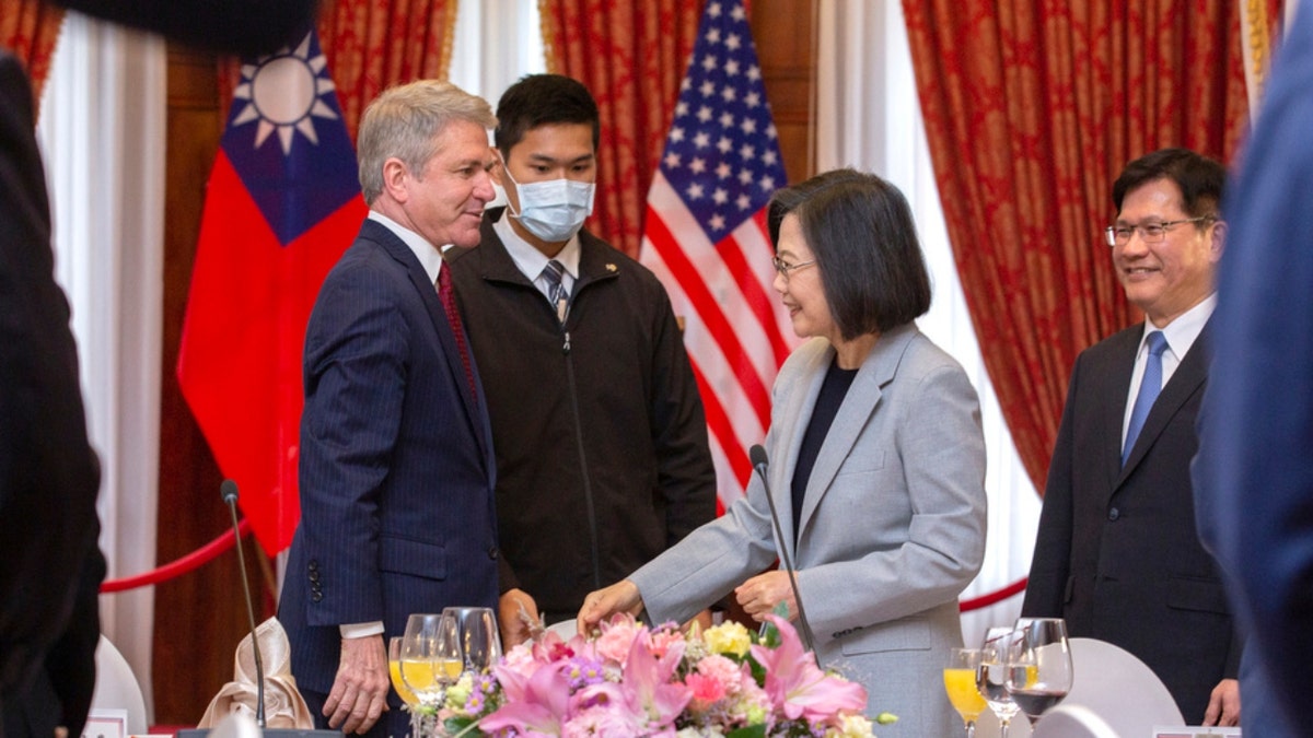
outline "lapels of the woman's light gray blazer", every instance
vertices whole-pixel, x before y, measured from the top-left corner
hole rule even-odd
[[[821,499],[830,490],[835,475],[839,473],[839,467],[848,458],[853,445],[857,443],[857,437],[861,436],[861,431],[871,422],[876,407],[880,406],[880,399],[884,397],[882,387],[894,380],[898,364],[916,335],[918,330],[915,324],[894,328],[876,341],[874,348],[871,349],[871,355],[861,362],[861,368],[857,370],[857,376],[853,377],[852,386],[848,387],[848,394],[843,398],[839,412],[835,415],[834,423],[826,433],[825,443],[821,444],[815,466],[811,469],[811,478],[807,479],[807,491],[802,500],[802,513],[798,516],[798,529],[801,532],[806,532],[807,523],[821,504]],[[829,366],[827,362],[817,373],[815,393],[811,397],[813,407],[815,406],[815,394],[821,391],[821,383],[825,381]],[[809,420],[810,416],[811,414],[807,412],[806,418]],[[802,425],[801,429],[805,432],[806,423],[800,423],[800,425]],[[798,443],[801,444],[801,433],[798,435]]]

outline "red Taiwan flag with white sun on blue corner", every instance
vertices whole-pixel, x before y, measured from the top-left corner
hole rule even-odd
[[[365,218],[314,32],[249,60],[210,172],[177,377],[270,555],[301,516],[301,355],[319,285]]]

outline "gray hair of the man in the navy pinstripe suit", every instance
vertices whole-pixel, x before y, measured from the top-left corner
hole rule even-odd
[[[496,127],[496,116],[486,100],[449,81],[412,81],[376,97],[356,135],[365,202],[373,205],[383,192],[383,162],[395,156],[412,172],[423,172],[437,152],[439,134],[457,121]]]

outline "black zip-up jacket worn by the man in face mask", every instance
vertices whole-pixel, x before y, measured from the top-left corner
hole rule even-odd
[[[492,230],[448,264],[492,420],[502,591],[550,620],[716,515],[701,399],[666,289],[587,231],[566,324]]]

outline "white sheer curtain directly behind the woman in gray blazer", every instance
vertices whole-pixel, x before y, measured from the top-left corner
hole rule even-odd
[[[966,369],[979,393],[989,453],[989,545],[969,599],[1025,576],[1035,548],[1040,498],[1016,456],[972,327],[930,163],[920,102],[898,0],[821,0],[817,89],[817,171],[853,167],[874,172],[907,196],[930,265],[935,298],[920,330]],[[1011,624],[1014,596],[962,616],[962,636],[977,642],[990,625]]]

